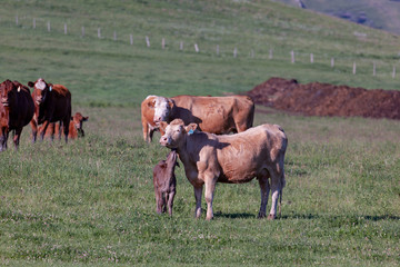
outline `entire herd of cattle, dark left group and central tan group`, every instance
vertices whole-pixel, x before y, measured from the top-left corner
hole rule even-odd
[[[18,148],[22,128],[29,122],[32,141],[61,131],[68,138],[83,136],[77,112],[71,117],[71,92],[61,85],[43,79],[28,82],[0,83],[0,151],[7,149],[9,134]],[[266,217],[271,190],[272,205],[268,219],[277,216],[278,199],[286,185],[283,161],[288,138],[278,125],[252,127],[254,103],[246,96],[164,98],[149,96],[141,103],[143,138],[150,142],[156,130],[161,132],[160,145],[170,148],[167,160],[153,169],[157,211],[172,215],[176,195],[174,167],[178,156],[188,180],[194,188],[196,217],[201,215],[201,195],[206,186],[207,219],[212,219],[212,199],[217,182],[242,184],[257,178],[261,188],[259,218]],[[233,135],[228,135],[233,132]],[[279,202],[279,208],[280,208]]]

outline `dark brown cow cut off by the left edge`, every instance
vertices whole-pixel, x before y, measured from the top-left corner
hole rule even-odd
[[[1,82],[0,99],[0,151],[7,149],[8,136],[12,130],[17,149],[22,128],[33,117],[34,103],[28,87],[10,80]]]

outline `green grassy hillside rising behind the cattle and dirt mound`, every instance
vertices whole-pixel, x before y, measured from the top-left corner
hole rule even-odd
[[[234,93],[277,76],[398,85],[397,36],[273,1],[7,0],[0,32],[1,80],[42,77],[66,85],[83,106],[138,106],[150,93]]]

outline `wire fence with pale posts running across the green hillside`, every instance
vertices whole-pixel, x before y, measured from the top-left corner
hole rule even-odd
[[[30,21],[31,20],[31,21]],[[128,43],[130,46],[146,46],[151,49],[161,49],[161,50],[176,50],[181,52],[192,52],[198,55],[207,55],[214,57],[231,57],[233,59],[262,59],[262,60],[280,60],[289,61],[292,65],[296,63],[309,63],[309,65],[319,65],[324,66],[330,69],[339,69],[342,72],[348,72],[352,75],[371,75],[371,76],[386,76],[394,79],[397,77],[397,67],[399,65],[399,55],[393,56],[391,60],[387,59],[384,62],[382,60],[372,60],[370,58],[360,58],[354,57],[354,59],[329,56],[327,53],[318,55],[314,52],[304,52],[288,50],[283,51],[282,48],[273,49],[266,47],[256,47],[256,48],[240,48],[239,46],[228,46],[222,49],[220,43],[204,44],[204,41],[197,42],[193,40],[183,40],[166,37],[160,38],[150,38],[150,34],[146,36],[134,36],[133,33],[127,33],[127,30],[122,34],[119,34],[117,30],[104,29],[101,27],[77,27],[72,23],[57,21],[52,23],[50,20],[44,20],[40,18],[29,18],[29,17],[14,17],[14,23],[10,19],[0,18],[0,23],[9,23],[11,27],[21,27],[24,29],[32,30],[42,30],[49,33],[58,33],[64,36],[79,36],[81,38],[97,38],[99,40],[112,40],[118,42]],[[111,34],[110,34],[111,32]],[[203,46],[203,47],[202,47]],[[278,51],[276,51],[278,50]],[[389,62],[390,61],[390,62]],[[369,67],[368,67],[369,66]]]

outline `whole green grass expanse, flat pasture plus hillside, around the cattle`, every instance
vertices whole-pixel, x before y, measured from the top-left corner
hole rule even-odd
[[[398,63],[396,36],[269,1],[4,1],[0,32],[7,37],[0,40],[1,81],[43,77],[63,83],[73,112],[90,117],[84,139],[32,145],[27,127],[19,151],[0,155],[0,265],[400,264],[399,121],[257,107],[254,125],[279,123],[289,138],[282,217],[257,219],[260,191],[253,180],[218,185],[214,219],[206,221],[204,212],[193,218],[193,189],[182,168],[173,217],[156,214],[151,174],[168,149],[158,145],[159,135],[144,144],[139,107],[150,93],[241,92],[272,76],[397,89],[399,78],[390,76]],[[146,34],[154,40],[150,48]],[[307,61],[311,47],[321,56],[313,65]],[[292,65],[294,48],[303,55]],[[372,77],[373,61],[386,71]]]

